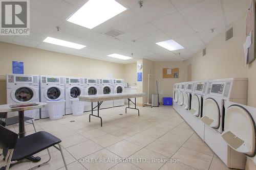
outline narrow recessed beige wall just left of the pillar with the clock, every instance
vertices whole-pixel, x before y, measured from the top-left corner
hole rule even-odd
[[[137,86],[137,63],[124,65],[124,82],[129,86]]]

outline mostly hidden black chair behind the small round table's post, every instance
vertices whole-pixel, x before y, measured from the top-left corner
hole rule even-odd
[[[18,116],[13,116],[13,117],[7,118],[7,113],[0,113],[0,119],[2,119],[2,121],[4,121],[6,123],[6,126],[18,124]],[[24,120],[26,123],[32,124],[34,127],[34,130],[36,132],[35,125],[34,125],[34,119],[32,117],[24,116]],[[31,122],[29,122],[29,120],[31,120]]]

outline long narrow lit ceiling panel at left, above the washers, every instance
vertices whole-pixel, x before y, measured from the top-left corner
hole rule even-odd
[[[81,48],[86,47],[86,45],[81,45],[81,44],[77,44],[74,42],[69,42],[69,41],[65,41],[65,40],[61,40],[61,39],[57,39],[57,38],[52,38],[52,37],[47,37],[43,42],[47,42],[50,44],[55,44],[55,45],[61,45],[61,46],[66,46],[69,48],[75,48],[77,50],[80,50]]]

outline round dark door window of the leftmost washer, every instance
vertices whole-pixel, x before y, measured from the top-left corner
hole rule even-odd
[[[15,98],[20,102],[28,102],[33,95],[33,90],[28,87],[20,87],[15,91]]]

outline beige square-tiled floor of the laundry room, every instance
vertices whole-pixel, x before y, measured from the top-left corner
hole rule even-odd
[[[140,116],[135,110],[125,114],[124,107],[100,110],[103,127],[96,117],[89,123],[89,112],[81,116],[67,115],[59,120],[36,120],[35,126],[37,131],[47,131],[62,140],[69,169],[228,169],[172,107],[139,109]],[[34,133],[31,125],[25,128],[27,135]],[[8,129],[18,131],[16,125]],[[50,152],[52,160],[37,169],[65,169],[60,152],[53,147]],[[41,162],[49,158],[46,151],[36,156],[41,157]],[[97,158],[97,161],[77,162],[80,158]],[[147,162],[136,161],[141,158]],[[152,158],[179,159],[180,162],[152,163]],[[5,162],[3,157],[0,159],[1,167]],[[121,159],[130,163],[118,162]],[[28,169],[37,164],[24,161],[11,169]]]

